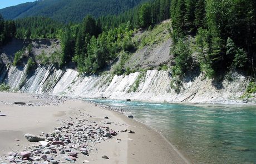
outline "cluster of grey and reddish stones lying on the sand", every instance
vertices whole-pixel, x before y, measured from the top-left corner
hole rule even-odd
[[[60,126],[50,133],[42,132],[37,136],[26,134],[24,137],[32,142],[32,145],[26,147],[22,152],[12,152],[2,158],[10,163],[76,162],[78,155],[88,156],[92,150],[97,151],[95,144],[114,138],[119,132],[122,132],[107,127],[108,124],[104,118],[102,121],[96,122],[87,120],[90,117],[90,115],[80,112],[79,118],[70,117],[70,119],[60,122]],[[129,131],[126,130],[126,132]],[[117,139],[117,141],[121,140]],[[109,159],[106,155],[103,155],[102,158]]]

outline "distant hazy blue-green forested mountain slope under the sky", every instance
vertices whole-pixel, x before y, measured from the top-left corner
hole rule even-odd
[[[119,14],[147,0],[44,0],[0,9],[5,19],[32,16],[50,17],[60,22],[79,22],[87,14],[94,17]]]

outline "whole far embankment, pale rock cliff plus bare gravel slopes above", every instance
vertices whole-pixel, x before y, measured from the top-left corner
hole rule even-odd
[[[140,45],[136,52],[130,54],[125,61],[124,68],[140,70],[129,75],[112,75],[112,69],[101,76],[83,76],[74,69],[58,69],[53,65],[39,65],[32,72],[26,72],[26,61],[18,67],[13,67],[14,53],[27,46],[27,42],[14,40],[8,46],[0,49],[0,82],[8,83],[12,91],[29,93],[47,93],[61,96],[79,96],[87,98],[114,98],[160,102],[210,102],[233,103],[252,101],[255,102],[255,94],[240,98],[246,91],[250,78],[238,74],[229,74],[228,78],[221,81],[206,79],[203,74],[188,77],[182,83],[180,92],[172,87],[173,80],[170,73],[171,39],[168,37],[166,24],[160,24],[151,31],[137,32],[135,42]],[[32,44],[32,57],[42,52],[51,54],[60,51],[60,43],[57,40],[36,40]],[[16,48],[16,49],[15,49]],[[162,66],[164,70],[157,71]],[[169,69],[167,70],[166,68]],[[150,69],[150,70],[149,70]],[[228,81],[229,79],[229,81]]]

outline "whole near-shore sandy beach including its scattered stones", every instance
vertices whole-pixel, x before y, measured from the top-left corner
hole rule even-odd
[[[14,105],[14,102],[26,105]],[[63,148],[77,153],[76,163],[189,163],[152,128],[122,113],[81,100],[0,92],[0,111],[6,115],[0,117],[0,163],[7,163],[8,153],[13,151],[17,157],[21,151],[31,151],[34,163],[52,163],[53,160],[70,163],[65,160],[68,152],[52,145],[53,141],[46,140],[51,146],[41,148],[39,142],[27,141],[26,133],[45,138],[46,134],[55,133],[66,139],[70,137],[71,143],[66,142]],[[117,135],[105,137],[106,132]],[[81,134],[86,135],[86,140],[79,138]],[[81,147],[87,149],[88,155],[81,153]],[[42,153],[35,154],[37,148]],[[46,149],[51,149],[47,156],[52,159],[44,161],[41,157]],[[102,158],[104,155],[109,159]]]

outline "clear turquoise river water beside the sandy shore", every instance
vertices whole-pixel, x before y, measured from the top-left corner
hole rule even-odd
[[[256,163],[256,106],[90,101],[156,128],[193,163]]]

